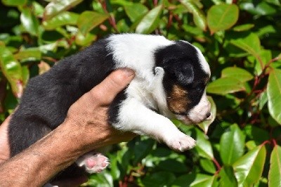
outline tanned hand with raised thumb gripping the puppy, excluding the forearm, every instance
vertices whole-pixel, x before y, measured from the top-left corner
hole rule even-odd
[[[133,70],[116,70],[70,107],[64,124],[70,124],[76,128],[77,143],[84,148],[83,152],[129,141],[136,136],[131,132],[119,131],[107,122],[107,110],[110,103],[133,77]]]

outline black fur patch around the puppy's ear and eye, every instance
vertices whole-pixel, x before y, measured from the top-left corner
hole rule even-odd
[[[202,69],[194,46],[185,41],[176,41],[176,44],[158,49],[155,53],[156,65],[163,67],[164,90],[172,92],[174,84],[178,84],[187,91],[187,100],[190,101],[185,108],[188,113],[200,102],[206,87],[205,79],[209,77]]]

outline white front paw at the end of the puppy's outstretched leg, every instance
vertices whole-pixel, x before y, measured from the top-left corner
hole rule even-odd
[[[167,144],[170,148],[182,152],[184,150],[193,148],[196,144],[196,141],[190,136],[184,134],[183,136],[178,136],[171,139]]]

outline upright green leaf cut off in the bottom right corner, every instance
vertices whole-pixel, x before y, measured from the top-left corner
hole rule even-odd
[[[270,155],[268,186],[281,186],[281,147],[275,145]]]

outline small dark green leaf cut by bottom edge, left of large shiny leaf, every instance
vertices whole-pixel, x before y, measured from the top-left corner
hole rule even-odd
[[[220,186],[237,186],[237,180],[234,175],[233,167],[225,165],[219,172],[221,180],[219,181]]]

